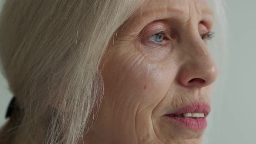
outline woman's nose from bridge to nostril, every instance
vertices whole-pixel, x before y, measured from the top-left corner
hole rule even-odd
[[[219,70],[206,44],[200,39],[186,44],[179,82],[186,87],[203,88],[216,81]]]

